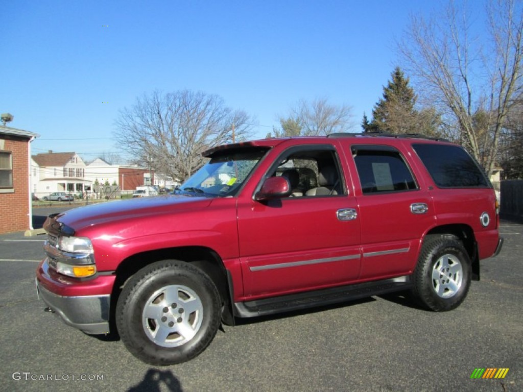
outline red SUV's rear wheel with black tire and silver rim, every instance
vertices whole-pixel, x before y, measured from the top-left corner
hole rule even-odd
[[[457,308],[467,297],[471,261],[461,242],[449,236],[424,241],[413,273],[413,294],[435,312]]]

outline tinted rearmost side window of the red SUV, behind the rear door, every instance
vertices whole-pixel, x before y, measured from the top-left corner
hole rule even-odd
[[[413,144],[413,148],[438,187],[490,187],[479,165],[462,147]]]

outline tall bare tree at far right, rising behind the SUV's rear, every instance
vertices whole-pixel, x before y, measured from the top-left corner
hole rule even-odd
[[[498,0],[487,15],[481,30],[488,40],[481,41],[472,37],[465,10],[450,3],[444,17],[413,17],[398,48],[419,98],[443,113],[491,175],[507,114],[523,94],[523,13],[520,2]]]

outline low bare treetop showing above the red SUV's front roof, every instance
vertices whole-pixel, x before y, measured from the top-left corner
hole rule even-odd
[[[325,98],[312,102],[300,100],[289,110],[287,117],[280,117],[282,130],[274,132],[278,137],[346,132],[355,126],[351,121],[354,117],[351,110],[347,105],[332,105]]]

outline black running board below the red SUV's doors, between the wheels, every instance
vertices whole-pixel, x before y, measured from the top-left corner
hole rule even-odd
[[[282,295],[255,301],[236,302],[233,304],[233,312],[236,317],[266,316],[349,300],[354,301],[355,299],[367,298],[372,295],[407,290],[411,287],[410,276],[405,275],[393,279],[338,286],[331,289]]]

